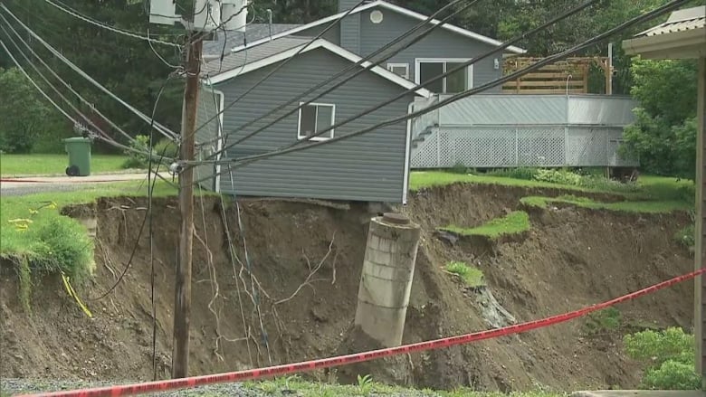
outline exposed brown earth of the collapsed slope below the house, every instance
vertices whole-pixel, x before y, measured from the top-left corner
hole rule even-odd
[[[520,208],[520,197],[530,194],[563,192],[452,185],[420,192],[405,207],[403,211],[423,227],[405,343],[489,327],[478,299],[443,271],[448,260],[463,260],[482,269],[488,290],[519,322],[614,298],[692,268],[688,251],[672,238],[688,222],[681,213],[533,211],[530,232],[497,243],[491,250],[474,241],[451,244],[434,235],[436,227],[451,222],[475,226],[509,213]],[[204,199],[203,207],[201,203],[196,202],[191,374],[281,364],[367,347],[351,327],[367,222],[375,214],[366,205],[350,203],[345,210],[316,203],[243,200],[243,233],[235,204],[230,204],[225,213],[234,240],[232,260],[220,203],[214,198]],[[125,269],[145,207],[145,199],[113,198],[66,211],[81,217],[95,213],[98,218],[97,273],[86,285],[74,286],[91,308],[92,319],[67,296],[61,279],[37,280],[33,313],[27,315],[16,298],[14,271],[9,264],[3,265],[1,373],[60,379],[152,378],[148,225],[124,279],[105,298],[94,300],[112,288]],[[153,220],[157,377],[167,378],[178,235],[176,202],[156,199]],[[256,282],[248,277],[243,234]],[[691,282],[682,283],[619,309],[630,329],[647,324],[691,329],[692,291]],[[368,371],[376,380],[444,389],[456,385],[501,391],[539,385],[561,390],[634,386],[639,370],[621,353],[620,336],[627,328],[588,336],[584,324],[579,319],[520,336],[412,354],[393,363],[368,364],[360,371]],[[391,368],[403,368],[405,373]],[[355,374],[347,369],[310,376],[349,381]]]

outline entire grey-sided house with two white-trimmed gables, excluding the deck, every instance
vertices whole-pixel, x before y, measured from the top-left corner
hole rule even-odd
[[[243,42],[243,34],[233,33],[219,35],[215,43],[205,46],[209,61],[204,68],[198,125],[239,100],[199,129],[196,141],[201,158],[213,156],[223,147],[231,146],[255,129],[296,109],[300,104],[291,104],[262,118],[427,18],[403,7],[374,1],[358,7],[335,29],[312,42],[313,37],[348,7],[358,4],[358,0],[339,1],[339,14],[311,24],[259,25],[246,33],[246,42]],[[229,148],[222,156],[217,156],[222,160],[219,164],[199,166],[196,179],[211,176],[205,179],[205,187],[224,194],[405,203],[413,139],[411,122],[396,123],[365,135],[264,158],[240,167],[229,168],[223,160],[271,152],[294,142],[307,145],[308,142],[301,141],[343,137],[406,114],[415,98],[467,90],[495,80],[502,73],[501,53],[430,84],[428,90],[415,90],[414,94],[379,107],[322,137],[310,137],[315,131],[358,116],[375,104],[414,88],[415,82],[439,75],[457,62],[472,59],[498,44],[500,42],[459,27],[440,26],[380,66],[358,74],[337,90]],[[224,48],[231,49],[223,52]],[[508,50],[522,52],[515,47]],[[243,96],[284,61],[287,62],[279,71]],[[301,103],[321,91],[301,99]],[[259,120],[243,128],[254,119]]]

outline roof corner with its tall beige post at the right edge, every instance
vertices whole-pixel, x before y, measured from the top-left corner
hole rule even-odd
[[[696,227],[694,267],[704,267],[706,259],[706,6],[687,8],[673,12],[667,22],[637,34],[623,42],[625,52],[640,55],[644,59],[698,59],[698,122],[696,140]],[[694,337],[696,339],[696,371],[706,380],[706,285],[699,277],[694,281]],[[702,385],[706,389],[706,381]]]

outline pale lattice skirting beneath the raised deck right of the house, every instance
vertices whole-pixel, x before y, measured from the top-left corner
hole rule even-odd
[[[634,166],[618,155],[622,128],[434,128],[412,149],[412,168]]]

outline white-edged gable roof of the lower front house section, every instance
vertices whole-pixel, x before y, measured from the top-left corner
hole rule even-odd
[[[206,62],[204,72],[207,74],[207,77],[205,78],[205,83],[207,85],[217,84],[250,71],[256,71],[265,66],[272,65],[272,63],[284,61],[295,56],[297,53],[310,52],[316,49],[325,49],[353,63],[362,59],[358,54],[349,52],[324,39],[317,39],[312,42],[310,38],[305,37],[281,37],[280,39],[248,48],[247,51],[229,54],[224,57],[223,66],[221,66],[220,60]],[[365,61],[360,64],[360,67],[365,68],[371,64],[371,62]],[[414,82],[399,77],[392,71],[387,71],[385,68],[374,66],[370,68],[369,71],[406,90],[411,90],[416,87]],[[425,89],[415,90],[415,93],[425,98],[432,96],[432,93]]]

